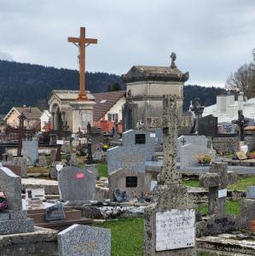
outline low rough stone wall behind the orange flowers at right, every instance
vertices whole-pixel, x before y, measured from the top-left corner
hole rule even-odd
[[[238,137],[214,137],[212,147],[223,154],[234,154],[237,151]]]

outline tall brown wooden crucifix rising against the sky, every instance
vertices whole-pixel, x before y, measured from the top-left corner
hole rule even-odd
[[[79,38],[68,38],[68,42],[71,42],[78,46],[79,49],[79,93],[78,101],[87,101],[88,97],[86,96],[86,78],[85,78],[85,47],[90,44],[97,44],[97,39],[86,38],[85,36],[85,27],[80,28]]]

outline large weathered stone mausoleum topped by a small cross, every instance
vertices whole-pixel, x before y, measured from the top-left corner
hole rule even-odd
[[[175,65],[175,60],[176,55],[172,53],[170,67],[133,66],[123,76],[129,105],[125,106],[125,123],[131,122],[131,126],[134,126],[139,122],[146,126],[148,118],[162,116],[163,95],[177,95],[177,108],[180,115],[182,114],[183,87],[188,80],[188,72],[180,71]],[[135,118],[136,121],[130,121],[129,117]],[[131,126],[126,128],[135,128]]]

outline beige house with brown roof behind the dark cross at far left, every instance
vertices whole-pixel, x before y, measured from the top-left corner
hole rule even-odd
[[[38,125],[41,123],[41,115],[42,112],[39,108],[34,107],[13,107],[7,113],[7,115],[4,117],[4,121],[7,125],[10,125],[12,127],[18,127],[19,126],[19,116],[23,113],[26,117],[24,121],[24,126],[26,129],[33,129],[38,128]]]

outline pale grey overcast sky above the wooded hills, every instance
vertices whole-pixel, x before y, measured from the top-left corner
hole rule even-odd
[[[223,86],[252,61],[253,0],[0,0],[0,58],[78,67],[67,43],[86,27],[88,71],[122,74],[133,65],[177,67],[187,84]]]

